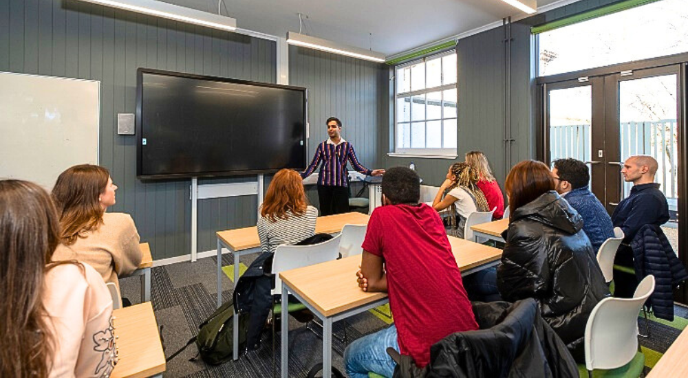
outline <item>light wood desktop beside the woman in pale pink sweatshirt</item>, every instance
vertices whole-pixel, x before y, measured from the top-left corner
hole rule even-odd
[[[151,302],[117,309],[112,315],[119,361],[111,377],[162,377],[165,355]]]

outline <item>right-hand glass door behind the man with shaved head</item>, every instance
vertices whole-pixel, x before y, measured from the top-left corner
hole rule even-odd
[[[621,164],[633,155],[649,155],[658,163],[655,182],[669,203],[671,219],[663,226],[678,253],[679,67],[626,71],[605,77],[609,105],[607,146],[613,157],[607,173],[607,209],[628,196],[633,186],[621,177]],[[611,156],[610,156],[611,157]]]

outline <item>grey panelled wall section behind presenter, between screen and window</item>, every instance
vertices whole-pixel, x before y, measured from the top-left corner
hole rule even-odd
[[[318,144],[327,139],[325,120],[335,116],[343,123],[342,136],[354,144],[362,164],[371,169],[379,168],[379,131],[383,130],[387,119],[381,120],[378,113],[386,111],[380,108],[380,98],[388,90],[387,82],[380,78],[386,72],[387,66],[379,63],[289,47],[290,85],[308,88],[309,163]],[[352,184],[352,194],[360,188],[361,184]],[[317,207],[315,186],[306,188],[306,194]]]

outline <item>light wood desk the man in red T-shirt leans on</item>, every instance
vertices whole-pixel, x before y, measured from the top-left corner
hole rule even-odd
[[[451,249],[462,276],[499,263],[502,251],[448,236]],[[314,315],[323,321],[323,378],[332,371],[332,324],[357,313],[387,303],[387,293],[367,293],[358,288],[356,271],[361,256],[350,256],[299,269],[283,271],[282,303],[292,293]],[[286,311],[286,309],[283,309]],[[288,316],[282,317],[281,370],[288,376]]]

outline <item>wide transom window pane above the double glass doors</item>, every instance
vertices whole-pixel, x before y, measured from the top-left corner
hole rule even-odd
[[[688,52],[688,4],[663,0],[538,35],[538,75]]]

